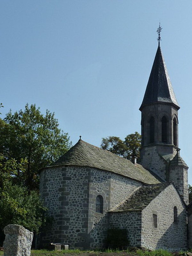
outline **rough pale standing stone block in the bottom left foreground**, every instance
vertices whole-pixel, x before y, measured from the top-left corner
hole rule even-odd
[[[8,225],[4,234],[4,256],[30,256],[33,232],[19,225]]]

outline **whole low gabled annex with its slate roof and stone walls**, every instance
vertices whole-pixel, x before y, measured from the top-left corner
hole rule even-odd
[[[172,182],[136,189],[110,212],[110,227],[126,228],[131,246],[186,250],[186,205]]]

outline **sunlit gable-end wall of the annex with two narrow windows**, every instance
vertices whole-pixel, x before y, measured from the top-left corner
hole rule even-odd
[[[174,206],[178,211],[176,223],[173,221]],[[153,226],[153,214],[157,215],[157,228]],[[142,211],[141,246],[152,250],[187,249],[186,207],[172,184]]]

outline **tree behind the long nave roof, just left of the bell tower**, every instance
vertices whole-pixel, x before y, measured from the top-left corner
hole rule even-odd
[[[140,156],[141,135],[138,132],[129,134],[125,137],[124,141],[119,137],[109,136],[102,138],[100,146],[103,149],[134,162],[134,157],[139,158]]]

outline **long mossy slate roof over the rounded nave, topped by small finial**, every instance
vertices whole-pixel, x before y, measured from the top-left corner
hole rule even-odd
[[[83,140],[79,140],[54,164],[95,167],[115,172],[146,184],[161,182],[140,164],[134,165],[131,161],[121,156],[95,147]]]

